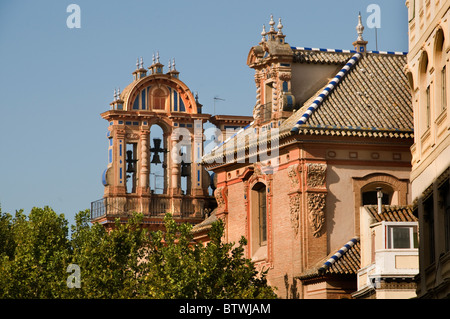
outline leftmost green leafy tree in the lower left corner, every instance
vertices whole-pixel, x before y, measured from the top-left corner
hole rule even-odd
[[[60,298],[66,286],[70,257],[67,221],[51,208],[33,208],[28,220],[22,211],[14,219],[2,214],[1,238],[9,248],[0,255],[0,294],[3,298]],[[13,252],[11,254],[11,252]]]

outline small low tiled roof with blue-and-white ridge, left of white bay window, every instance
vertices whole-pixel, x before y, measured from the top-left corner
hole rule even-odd
[[[356,275],[361,265],[359,238],[351,239],[337,252],[333,252],[298,278],[309,279],[323,275]]]

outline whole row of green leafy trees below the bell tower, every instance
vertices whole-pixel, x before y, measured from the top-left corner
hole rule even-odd
[[[116,221],[112,231],[79,212],[68,223],[51,208],[15,217],[0,210],[0,298],[275,298],[267,271],[244,257],[246,241],[196,243],[192,225],[165,217],[165,231],[141,227],[142,215]],[[80,269],[80,288],[68,288],[67,267]]]

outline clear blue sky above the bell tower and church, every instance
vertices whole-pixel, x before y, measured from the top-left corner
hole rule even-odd
[[[69,4],[81,28],[69,29]],[[250,48],[282,18],[292,46],[352,49],[358,11],[381,8],[378,49],[408,51],[404,0],[111,1],[1,0],[0,205],[14,213],[49,205],[70,223],[103,196],[107,122],[114,88],[132,80],[159,51],[176,59],[180,79],[204,113],[251,115],[256,101]],[[375,31],[366,25],[368,50]],[[167,71],[167,67],[165,68]]]

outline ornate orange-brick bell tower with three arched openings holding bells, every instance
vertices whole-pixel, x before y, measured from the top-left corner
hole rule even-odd
[[[114,90],[108,122],[108,163],[102,174],[104,196],[91,203],[91,220],[112,227],[132,212],[144,214],[153,229],[163,226],[166,213],[192,224],[212,209],[210,175],[200,163],[203,123],[198,97],[179,79],[175,60],[169,72],[159,52],[147,70],[137,60],[133,81]]]

